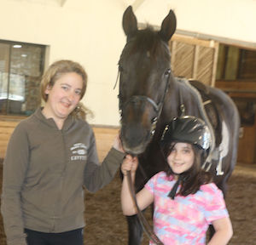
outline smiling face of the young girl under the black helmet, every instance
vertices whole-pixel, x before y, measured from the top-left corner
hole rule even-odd
[[[172,147],[172,151],[167,157],[167,162],[174,174],[182,174],[192,167],[195,153],[192,145],[178,142]]]

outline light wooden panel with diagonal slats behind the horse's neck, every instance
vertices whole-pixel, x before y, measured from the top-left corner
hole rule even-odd
[[[169,43],[171,66],[176,77],[193,78],[215,85],[218,43],[174,35]]]

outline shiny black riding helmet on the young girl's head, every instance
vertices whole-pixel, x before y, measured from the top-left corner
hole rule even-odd
[[[207,151],[212,144],[207,124],[193,116],[174,117],[161,137],[162,144],[170,142],[186,142]]]

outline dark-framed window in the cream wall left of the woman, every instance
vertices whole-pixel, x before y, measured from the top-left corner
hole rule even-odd
[[[45,46],[0,40],[0,114],[30,115],[40,105]]]

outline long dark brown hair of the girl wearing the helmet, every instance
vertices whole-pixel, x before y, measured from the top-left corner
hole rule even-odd
[[[167,176],[174,174],[167,162],[167,157],[170,155],[175,144],[176,142],[172,142],[171,144],[165,144],[162,147],[162,152],[166,161],[166,168],[164,171]],[[179,174],[181,176],[181,188],[178,194],[183,197],[186,197],[189,194],[195,194],[195,192],[200,190],[201,185],[212,182],[212,174],[201,168],[202,162],[205,161],[204,151],[195,145],[190,145],[195,154],[194,163],[187,171]]]

